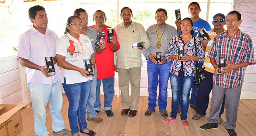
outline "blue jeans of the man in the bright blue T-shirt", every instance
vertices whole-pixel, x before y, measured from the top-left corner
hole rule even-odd
[[[202,69],[202,66],[203,66],[203,62],[199,63],[199,68]],[[198,93],[198,90],[199,90],[199,85],[197,84],[192,84],[192,91],[191,91],[191,98],[190,98],[190,105],[195,105],[196,104],[196,98],[197,98],[197,93]],[[181,106],[181,96],[180,96],[180,102],[179,102],[179,106]]]

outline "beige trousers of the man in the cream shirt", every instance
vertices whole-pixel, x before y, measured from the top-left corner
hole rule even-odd
[[[141,85],[141,67],[136,68],[117,68],[119,89],[121,90],[121,97],[124,109],[138,110],[140,99],[140,85]],[[129,99],[129,82],[131,82],[131,103]]]

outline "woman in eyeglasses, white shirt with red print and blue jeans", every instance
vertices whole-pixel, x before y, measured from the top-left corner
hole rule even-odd
[[[93,136],[95,132],[87,128],[85,120],[92,75],[85,70],[84,61],[91,59],[94,72],[95,56],[90,38],[80,34],[82,28],[80,17],[68,18],[65,35],[56,43],[56,58],[58,66],[62,67],[61,82],[69,101],[68,119],[72,136],[79,136],[77,121],[81,133]]]

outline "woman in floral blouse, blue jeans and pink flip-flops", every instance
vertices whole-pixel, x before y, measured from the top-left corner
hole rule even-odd
[[[172,62],[170,68],[172,111],[171,115],[163,120],[163,123],[176,120],[181,94],[181,121],[184,128],[189,128],[190,123],[187,121],[187,112],[190,90],[195,76],[195,61],[203,61],[205,55],[200,39],[193,36],[193,21],[190,18],[182,20],[181,31],[181,35],[171,39],[165,54],[166,58]],[[183,49],[184,55],[180,55],[179,58],[179,50],[181,51],[181,49]]]

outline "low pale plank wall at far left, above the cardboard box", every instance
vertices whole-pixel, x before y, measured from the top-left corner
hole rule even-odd
[[[0,61],[0,92],[3,104],[22,104],[19,61],[15,56]]]

